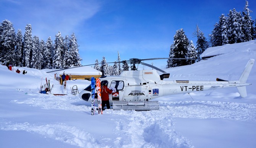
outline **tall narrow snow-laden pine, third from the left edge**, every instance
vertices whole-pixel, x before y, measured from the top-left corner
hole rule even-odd
[[[32,50],[32,27],[27,24],[25,27],[23,43],[23,66],[30,67],[31,50]]]

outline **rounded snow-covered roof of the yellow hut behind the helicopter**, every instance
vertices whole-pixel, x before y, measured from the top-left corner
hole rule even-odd
[[[59,74],[62,75],[63,72],[68,75],[102,75],[102,72],[97,71],[96,69],[92,67],[82,66],[77,68],[70,68],[70,69],[63,69],[63,71],[60,71]]]

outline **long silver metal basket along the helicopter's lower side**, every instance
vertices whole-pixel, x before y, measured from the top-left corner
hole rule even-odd
[[[113,110],[159,110],[158,101],[113,101]]]

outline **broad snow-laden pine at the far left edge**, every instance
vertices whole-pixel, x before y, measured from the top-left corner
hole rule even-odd
[[[15,56],[15,45],[16,45],[16,35],[13,28],[13,23],[5,19],[0,25],[0,60],[4,64],[10,62],[15,64],[13,57]]]

